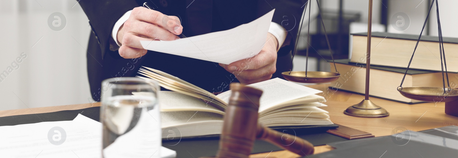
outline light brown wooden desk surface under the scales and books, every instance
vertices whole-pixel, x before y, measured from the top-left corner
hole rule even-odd
[[[329,111],[331,120],[334,123],[349,126],[365,132],[370,132],[376,137],[386,136],[393,134],[394,129],[408,129],[412,131],[421,131],[436,127],[458,126],[458,117],[450,116],[444,113],[444,103],[422,103],[422,104],[403,104],[389,100],[371,97],[370,99],[376,104],[385,108],[390,112],[390,116],[383,118],[360,118],[347,116],[344,110],[354,104],[359,103],[364,99],[364,95],[358,95],[348,92],[330,90],[327,87],[329,84],[315,84],[308,85],[308,87],[322,90],[326,93],[328,99],[325,103],[327,107],[321,107],[323,110]],[[319,94],[323,95],[323,94]],[[100,103],[76,104],[76,105],[62,105],[50,106],[31,109],[18,109],[0,111],[1,116],[13,116],[24,114],[36,114],[63,110],[77,110],[84,109],[92,106],[100,106]],[[322,153],[332,150],[330,146],[315,147],[315,153]],[[289,151],[278,151],[272,153],[259,153],[253,154],[251,158],[299,158],[299,155]]]

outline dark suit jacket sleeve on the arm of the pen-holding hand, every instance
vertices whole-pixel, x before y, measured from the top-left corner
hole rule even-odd
[[[109,51],[114,23],[125,12],[139,6],[135,0],[79,0],[78,3],[89,19],[91,29],[102,50],[102,57]]]

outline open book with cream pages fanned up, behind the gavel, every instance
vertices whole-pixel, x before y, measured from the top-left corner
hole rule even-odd
[[[146,68],[146,67],[145,67]],[[154,79],[162,87],[172,91],[159,91],[163,130],[175,127],[181,137],[221,134],[224,110],[231,91],[213,95],[207,90],[190,84],[170,74],[153,68],[141,68],[137,76]],[[258,121],[264,126],[332,125],[327,111],[319,106],[326,100],[315,95],[321,93],[284,79],[247,85],[262,90]],[[174,131],[176,132],[176,131]],[[163,137],[169,133],[163,132]]]

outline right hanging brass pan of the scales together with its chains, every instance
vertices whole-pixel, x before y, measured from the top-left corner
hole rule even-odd
[[[441,67],[442,67],[442,88],[441,87],[402,87],[404,82],[404,78],[409,70],[410,63],[412,63],[412,59],[414,58],[415,50],[417,49],[418,43],[420,42],[421,34],[425,29],[426,22],[428,21],[429,15],[431,13],[432,5],[434,5],[434,1],[431,1],[430,9],[428,14],[426,15],[425,23],[423,24],[423,28],[421,29],[420,36],[418,37],[417,44],[414,48],[414,53],[412,53],[412,57],[410,57],[409,65],[407,66],[406,73],[401,81],[401,85],[397,88],[399,93],[406,98],[420,100],[420,101],[428,101],[428,102],[450,102],[458,100],[458,90],[454,90],[450,88],[450,84],[448,81],[448,73],[447,73],[447,62],[445,59],[445,51],[444,51],[444,42],[442,40],[442,28],[441,28],[441,21],[439,18],[439,0],[436,0],[436,16],[437,16],[437,32],[439,36],[439,53],[441,57]],[[444,67],[445,67],[445,77],[444,77]],[[447,88],[445,87],[445,79],[447,79]]]

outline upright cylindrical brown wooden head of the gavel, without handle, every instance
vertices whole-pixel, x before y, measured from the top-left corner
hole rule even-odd
[[[230,84],[232,94],[224,115],[217,158],[248,158],[256,139],[262,90]]]

